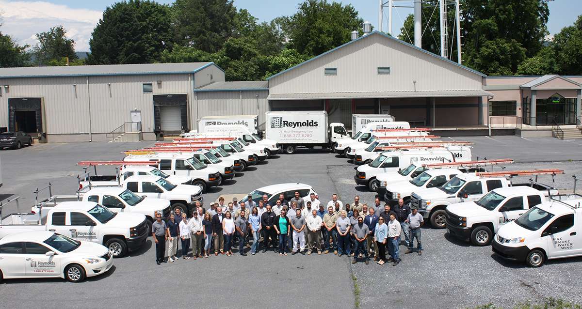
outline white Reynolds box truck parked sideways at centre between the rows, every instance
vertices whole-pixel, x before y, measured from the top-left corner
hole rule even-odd
[[[347,137],[342,123],[330,123],[325,110],[265,113],[267,138],[291,154],[298,147],[331,149],[340,138]],[[329,130],[328,130],[329,129]]]

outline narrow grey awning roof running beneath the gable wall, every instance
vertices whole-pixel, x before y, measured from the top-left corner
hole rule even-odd
[[[481,89],[432,90],[432,91],[367,91],[367,92],[318,92],[311,94],[269,94],[269,100],[320,100],[320,99],[367,99],[367,98],[424,98],[438,96],[492,96]]]

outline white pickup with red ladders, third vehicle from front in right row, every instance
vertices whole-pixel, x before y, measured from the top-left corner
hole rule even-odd
[[[418,208],[418,212],[425,219],[430,220],[433,228],[445,228],[445,209],[449,205],[478,200],[493,189],[529,185],[528,183],[512,184],[506,178],[512,177],[512,173],[519,174],[519,171],[505,173],[480,172],[456,175],[439,188],[414,191],[410,197],[410,203],[411,206]],[[539,173],[543,173],[542,170]],[[541,189],[535,185],[534,188]]]

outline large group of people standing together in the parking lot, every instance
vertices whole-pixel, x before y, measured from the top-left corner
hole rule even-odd
[[[399,200],[391,210],[389,204],[381,206],[380,200],[368,207],[360,203],[360,197],[345,205],[333,194],[324,206],[318,196],[311,193],[310,200],[304,201],[299,192],[291,200],[281,194],[275,202],[268,203],[268,196],[262,196],[258,203],[249,195],[246,202],[233,199],[225,204],[223,197],[205,210],[197,202],[191,217],[177,209],[163,221],[156,215],[152,224],[152,235],[156,243],[157,264],[177,260],[178,242],[182,246],[182,258],[208,258],[214,253],[232,256],[233,246],[238,246],[242,256],[246,249],[255,255],[260,250],[265,253],[273,249],[279,256],[288,253],[328,254],[352,256],[352,263],[370,258],[382,265],[400,263],[400,236],[404,235],[406,254],[413,252],[413,240],[417,240],[417,253],[422,254],[421,229],[424,219],[416,209],[410,209]],[[252,239],[252,241],[251,241]],[[248,241],[247,241],[248,240]],[[252,245],[251,245],[252,243]],[[191,256],[189,255],[191,246]],[[386,254],[388,251],[388,255]]]

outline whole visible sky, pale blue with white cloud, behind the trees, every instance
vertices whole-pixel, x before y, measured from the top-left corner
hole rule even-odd
[[[487,0],[483,0],[487,1]],[[95,24],[99,21],[102,11],[116,1],[107,0],[0,0],[0,12],[3,34],[11,35],[20,44],[34,45],[38,41],[35,34],[48,31],[49,28],[62,25],[67,36],[76,42],[76,51],[89,51],[89,39]],[[159,3],[172,3],[172,0],[158,0]],[[247,9],[259,21],[269,21],[278,16],[293,15],[297,3],[301,0],[234,0],[239,9]],[[340,2],[336,0],[336,2]],[[341,1],[350,3],[358,10],[360,17],[370,21],[378,29],[378,0]],[[400,2],[402,5],[412,1]],[[558,33],[563,27],[574,23],[582,14],[582,0],[554,0],[549,2],[549,37]],[[385,9],[387,12],[387,9]],[[392,28],[398,35],[403,20],[411,9],[398,8],[393,10]],[[387,13],[386,13],[387,14]],[[388,20],[384,19],[384,31]]]

